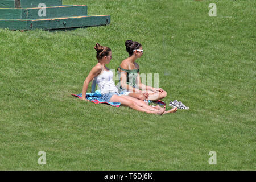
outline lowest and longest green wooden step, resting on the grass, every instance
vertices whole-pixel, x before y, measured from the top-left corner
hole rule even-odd
[[[43,30],[102,26],[110,23],[110,15],[87,15],[52,19],[0,19],[0,28],[9,30]]]

